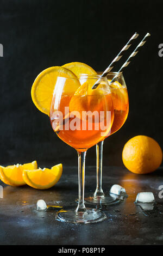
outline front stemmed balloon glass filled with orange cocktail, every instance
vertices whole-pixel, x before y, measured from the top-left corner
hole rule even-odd
[[[55,84],[50,113],[51,125],[62,141],[77,150],[79,182],[78,206],[60,210],[56,217],[58,221],[92,223],[106,218],[103,212],[86,209],[84,204],[86,150],[108,136],[114,120],[107,79],[101,78],[98,88],[91,89],[99,77],[58,77]]]

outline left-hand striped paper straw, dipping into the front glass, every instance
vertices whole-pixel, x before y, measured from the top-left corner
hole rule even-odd
[[[112,60],[112,62],[110,63],[110,65],[108,66],[108,68],[105,69],[105,71],[103,72],[103,74],[101,75],[100,78],[105,77],[108,75],[108,73],[112,70],[112,68],[114,68],[114,65],[116,62],[118,62],[118,60],[121,59],[121,57],[123,56],[124,52],[126,50],[128,50],[128,48],[131,46],[131,44],[133,44],[133,41],[139,36],[139,34],[135,33],[133,36],[131,36],[130,40],[127,42],[127,44],[122,48],[122,50],[118,53],[118,55],[114,58],[114,60]],[[98,84],[99,84],[100,80],[97,80],[97,82],[93,85],[92,89],[97,88]]]

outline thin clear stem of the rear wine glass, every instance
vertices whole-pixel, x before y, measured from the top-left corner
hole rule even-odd
[[[105,194],[102,189],[102,168],[103,168],[103,143],[104,141],[96,144],[96,172],[97,172],[97,186],[94,197],[104,197]]]

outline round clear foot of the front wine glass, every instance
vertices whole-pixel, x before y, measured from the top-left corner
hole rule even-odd
[[[86,212],[76,212],[76,208],[68,208],[58,211],[55,219],[69,223],[89,224],[104,221],[106,215],[97,209],[87,208]]]

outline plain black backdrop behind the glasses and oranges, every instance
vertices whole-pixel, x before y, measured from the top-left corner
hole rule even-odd
[[[121,166],[123,146],[136,135],[151,136],[162,147],[163,57],[158,56],[163,43],[162,0],[1,0],[0,4],[2,165],[33,160],[77,164],[76,151],[54,134],[48,116],[34,106],[33,81],[43,69],[74,61],[104,70],[134,32],[140,34],[135,44],[147,32],[152,36],[124,72],[129,116],[121,130],[105,140],[104,165]],[[87,151],[87,164],[96,164],[95,151],[95,147]]]

